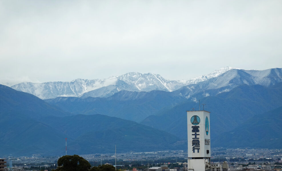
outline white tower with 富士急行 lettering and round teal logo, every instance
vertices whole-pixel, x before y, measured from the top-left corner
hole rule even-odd
[[[209,112],[187,111],[188,171],[210,170]]]

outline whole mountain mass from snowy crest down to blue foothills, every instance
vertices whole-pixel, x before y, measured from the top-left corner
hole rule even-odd
[[[190,81],[128,73],[115,77],[115,84],[102,84],[92,92],[77,94],[78,97],[59,97],[67,91],[73,95],[78,92],[74,90],[83,92],[88,83],[93,88],[95,82],[77,79],[11,86],[29,93],[1,85],[3,154],[62,155],[65,138],[71,154],[107,153],[115,144],[120,152],[185,150],[185,111],[198,110],[199,100],[211,112],[212,147],[281,148],[282,135],[276,130],[282,119],[282,68],[226,67]],[[103,82],[106,81],[99,84]],[[167,85],[184,86],[172,91],[165,88]],[[41,98],[48,95],[55,98],[42,100],[31,92]],[[268,119],[273,116],[275,119]],[[268,126],[262,128],[256,124],[259,122]],[[263,131],[259,135],[253,134],[260,129]],[[219,141],[219,137],[225,141]],[[273,139],[271,143],[269,138]]]

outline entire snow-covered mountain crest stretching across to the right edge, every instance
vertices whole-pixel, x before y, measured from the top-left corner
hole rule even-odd
[[[107,79],[76,79],[70,82],[45,83],[23,82],[11,87],[18,91],[31,93],[41,99],[51,99],[59,96],[109,97],[121,90],[162,90],[169,92],[178,90],[181,95],[189,98],[200,91],[207,90],[206,92],[209,92],[211,89],[229,91],[241,84],[269,86],[273,81],[282,81],[281,68],[259,71],[225,67],[189,80],[168,80],[159,74],[130,72]],[[214,91],[214,93],[218,92]]]

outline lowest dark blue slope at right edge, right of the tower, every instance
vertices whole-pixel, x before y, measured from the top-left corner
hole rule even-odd
[[[281,148],[282,106],[249,118],[238,127],[214,139],[222,147]]]

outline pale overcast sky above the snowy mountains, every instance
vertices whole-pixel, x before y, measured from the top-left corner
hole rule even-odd
[[[282,68],[282,1],[0,0],[0,83]]]

